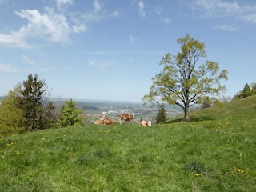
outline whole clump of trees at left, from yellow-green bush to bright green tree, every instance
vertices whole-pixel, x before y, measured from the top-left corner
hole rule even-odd
[[[76,102],[54,102],[46,82],[38,74],[18,82],[0,105],[0,137],[35,130],[61,128],[82,124],[82,110]]]

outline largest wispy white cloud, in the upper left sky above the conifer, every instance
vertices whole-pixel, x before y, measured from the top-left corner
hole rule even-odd
[[[0,44],[30,48],[32,46],[27,42],[30,38],[66,43],[69,42],[70,33],[86,31],[86,26],[78,20],[73,21],[74,25],[70,26],[64,14],[56,13],[49,7],[46,7],[42,13],[38,10],[20,10],[14,13],[20,18],[26,18],[28,23],[18,31],[0,34]]]

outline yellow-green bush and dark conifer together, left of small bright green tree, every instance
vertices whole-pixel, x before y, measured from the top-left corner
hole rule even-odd
[[[56,106],[46,98],[46,83],[32,74],[2,99],[0,106],[0,135],[18,134],[54,127],[58,113]]]

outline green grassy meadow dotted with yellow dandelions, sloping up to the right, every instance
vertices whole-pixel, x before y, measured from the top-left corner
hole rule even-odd
[[[141,127],[0,140],[0,191],[256,191],[256,95]]]

